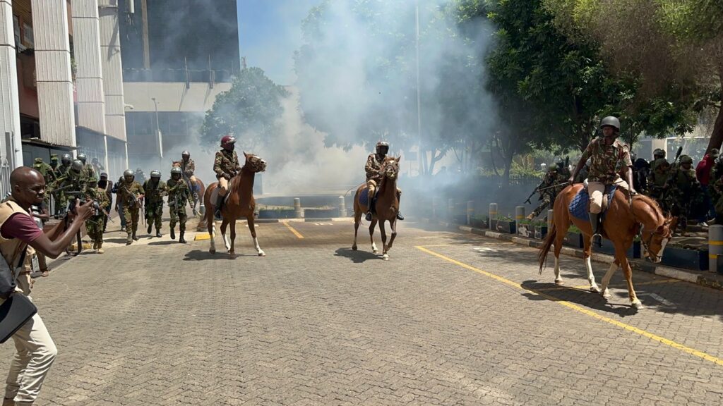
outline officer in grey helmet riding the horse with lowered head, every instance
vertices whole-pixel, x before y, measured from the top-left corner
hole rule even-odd
[[[581,168],[588,158],[590,167],[588,169],[588,192],[590,194],[590,223],[595,238],[600,236],[600,212],[602,212],[602,198],[608,186],[616,185],[625,189],[630,194],[636,194],[633,188],[633,161],[630,159],[630,148],[620,139],[620,121],[617,117],[608,116],[600,121],[602,137],[596,137],[586,147],[580,161],[575,168],[575,173],[570,176],[570,183],[578,175],[578,168]],[[617,173],[618,164],[625,173],[625,180]]]

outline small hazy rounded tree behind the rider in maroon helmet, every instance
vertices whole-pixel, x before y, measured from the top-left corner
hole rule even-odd
[[[289,92],[266,77],[260,68],[242,69],[231,89],[216,97],[201,126],[201,142],[215,147],[226,134],[244,139],[244,147],[273,142],[283,113],[281,100]]]

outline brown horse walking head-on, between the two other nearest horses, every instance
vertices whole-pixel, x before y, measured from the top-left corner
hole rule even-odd
[[[377,203],[375,206],[375,215],[372,217],[372,223],[369,225],[369,238],[372,240],[372,251],[375,254],[379,252],[377,250],[377,244],[374,242],[374,228],[379,222],[379,229],[382,232],[382,259],[385,261],[389,260],[389,250],[392,248],[394,238],[397,236],[397,212],[399,211],[399,196],[397,195],[397,178],[399,177],[399,160],[401,157],[385,157],[382,162],[382,181],[377,188]],[[356,234],[359,232],[359,223],[361,223],[361,216],[369,211],[367,205],[359,202],[359,195],[361,191],[367,189],[366,185],[359,186],[354,194],[354,245],[351,249],[356,251]],[[369,204],[372,204],[372,196],[368,197]],[[387,244],[387,232],[384,228],[384,222],[388,221],[390,228],[392,229],[392,238],[390,238]]]

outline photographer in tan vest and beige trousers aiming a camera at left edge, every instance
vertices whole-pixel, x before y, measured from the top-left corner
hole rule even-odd
[[[0,261],[0,307],[6,301],[12,303],[8,301],[11,295],[30,298],[30,275],[22,272],[27,246],[56,258],[85,220],[93,215],[93,201],[90,200],[69,213],[69,217],[74,217],[72,222],[67,218],[48,233],[43,233],[30,217],[30,207],[40,204],[45,197],[43,175],[33,168],[20,167],[10,174],[10,186],[12,197],[0,204],[0,254],[3,257]],[[11,319],[11,314],[12,310],[5,318]],[[3,406],[33,405],[58,350],[38,313],[22,324],[12,334],[12,339],[17,353],[7,377]]]

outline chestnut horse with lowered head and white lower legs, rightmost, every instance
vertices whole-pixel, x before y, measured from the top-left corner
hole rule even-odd
[[[601,292],[604,298],[609,298],[607,287],[612,274],[617,267],[623,267],[625,281],[628,282],[628,294],[630,295],[630,303],[634,308],[643,308],[641,301],[638,299],[633,289],[633,271],[630,269],[630,263],[626,256],[626,252],[633,245],[633,240],[642,231],[641,242],[645,252],[643,256],[647,256],[652,262],[660,262],[663,257],[665,244],[672,237],[671,230],[674,227],[675,219],[665,217],[658,204],[647,196],[637,194],[633,196],[632,202],[628,200],[628,191],[617,189],[612,202],[609,202],[607,213],[605,214],[602,228],[604,235],[615,245],[615,261],[610,264],[609,269],[602,278],[602,289],[598,288],[595,283],[595,276],[592,273],[592,265],[590,263],[590,249],[592,245],[592,226],[588,220],[580,220],[570,215],[570,202],[575,198],[579,191],[583,189],[582,184],[570,185],[560,192],[555,199],[555,214],[552,216],[552,230],[549,230],[547,238],[542,244],[542,251],[539,254],[540,273],[544,267],[545,259],[549,253],[552,244],[555,244],[555,283],[562,285],[562,277],[560,277],[560,251],[562,250],[562,240],[570,224],[576,225],[583,233],[584,259],[588,272],[588,281],[590,282],[590,290],[593,292]],[[641,230],[642,225],[642,230]]]

